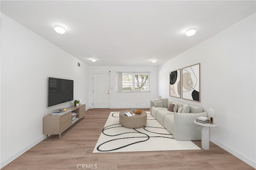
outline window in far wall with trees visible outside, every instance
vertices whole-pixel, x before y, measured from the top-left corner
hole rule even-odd
[[[119,73],[119,77],[119,92],[149,91],[149,73]]]

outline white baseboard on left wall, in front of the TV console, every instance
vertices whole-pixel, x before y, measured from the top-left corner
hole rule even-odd
[[[20,150],[19,152],[17,152],[16,154],[14,154],[13,156],[11,156],[10,158],[8,158],[7,160],[4,160],[3,162],[0,163],[0,169],[4,168],[4,166],[8,165],[10,162],[12,162],[14,159],[18,158],[20,155],[24,154],[26,151],[28,151],[30,148],[34,147],[36,144],[38,144],[39,142],[41,142],[42,140],[44,140],[46,138],[46,135],[42,136],[41,138],[39,138],[38,140],[36,140],[35,142],[33,142],[32,144],[28,145],[27,147],[25,147],[24,149]]]

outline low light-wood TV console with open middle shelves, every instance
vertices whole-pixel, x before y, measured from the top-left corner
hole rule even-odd
[[[61,116],[52,116],[52,114],[44,117],[44,127],[43,134],[46,134],[46,138],[48,138],[49,134],[58,134],[61,138],[61,133],[64,132],[67,128],[73,125],[85,115],[85,105],[71,106],[66,109],[71,109],[70,112]],[[72,112],[75,112],[76,115],[72,116]],[[76,121],[71,121],[72,117],[76,117]]]

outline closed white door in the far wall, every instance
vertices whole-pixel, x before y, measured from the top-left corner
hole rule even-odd
[[[109,109],[109,74],[93,74],[93,108]]]

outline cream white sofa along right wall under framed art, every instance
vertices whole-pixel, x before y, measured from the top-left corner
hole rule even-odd
[[[202,127],[196,125],[194,120],[201,116],[207,117],[207,113],[203,112],[202,108],[171,99],[159,100],[150,101],[150,114],[171,132],[176,140],[201,140]],[[170,104],[175,105],[173,112],[168,111]],[[183,113],[177,113],[181,112],[185,106],[186,109],[183,109]]]

